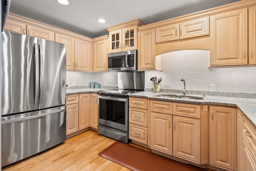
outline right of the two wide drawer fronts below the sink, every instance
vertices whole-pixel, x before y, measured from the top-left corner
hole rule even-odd
[[[200,119],[200,105],[173,103],[173,114]]]

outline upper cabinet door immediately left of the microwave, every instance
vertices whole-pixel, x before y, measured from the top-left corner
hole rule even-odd
[[[93,70],[107,70],[107,40],[93,42]]]

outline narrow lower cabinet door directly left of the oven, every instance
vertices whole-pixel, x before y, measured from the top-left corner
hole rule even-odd
[[[90,127],[98,129],[98,99],[96,93],[91,93],[90,97]]]

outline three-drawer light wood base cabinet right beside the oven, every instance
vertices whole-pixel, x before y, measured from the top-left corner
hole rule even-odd
[[[129,97],[129,139],[149,145],[148,99]]]

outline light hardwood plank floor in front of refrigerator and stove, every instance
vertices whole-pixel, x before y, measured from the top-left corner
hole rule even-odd
[[[3,171],[130,171],[98,153],[115,140],[88,130],[33,157],[2,168]],[[4,156],[3,156],[4,157]]]

